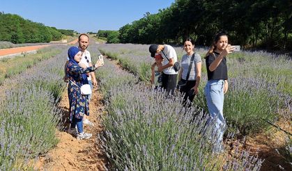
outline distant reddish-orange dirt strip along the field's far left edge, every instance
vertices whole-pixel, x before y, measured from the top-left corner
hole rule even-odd
[[[75,39],[71,42],[68,42],[67,44],[75,44],[77,43],[78,39]],[[51,45],[56,45],[56,44],[44,44],[44,45],[37,45],[37,46],[29,46],[29,47],[14,47],[14,48],[9,48],[9,49],[0,49],[0,56],[7,56],[7,55],[12,55],[12,54],[22,54],[27,51],[34,51],[38,50],[43,47],[48,47]]]

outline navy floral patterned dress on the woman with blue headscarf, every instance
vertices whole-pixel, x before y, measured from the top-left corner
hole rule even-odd
[[[73,117],[82,119],[84,114],[89,115],[89,99],[87,95],[81,95],[80,87],[82,86],[82,74],[93,72],[95,69],[94,65],[83,69],[70,61],[66,67],[66,74],[69,80],[68,98],[70,104],[70,122],[72,122]]]

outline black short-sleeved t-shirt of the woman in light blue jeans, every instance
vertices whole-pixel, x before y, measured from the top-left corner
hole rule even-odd
[[[224,79],[224,80],[226,80],[226,79],[228,79],[228,76],[227,76],[227,64],[226,64],[225,56],[221,60],[221,62],[218,65],[218,67],[213,72],[210,72],[210,70],[209,70],[210,64],[213,63],[215,58],[217,58],[217,56],[219,56],[219,55],[220,55],[219,53],[214,51],[213,54],[208,54],[208,56],[206,57],[208,80],[211,80],[211,79]]]

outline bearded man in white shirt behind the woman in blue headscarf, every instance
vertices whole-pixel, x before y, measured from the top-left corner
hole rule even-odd
[[[82,59],[79,63],[80,67],[91,67],[91,54],[87,50],[87,47],[89,46],[89,35],[86,35],[85,33],[82,33],[78,37],[78,43],[79,43],[79,49],[82,51]],[[68,78],[66,76],[66,67],[68,65],[68,60],[65,64],[65,76],[64,76],[64,81],[68,82]],[[89,81],[89,85],[91,86],[91,90],[93,89],[93,86],[97,86],[98,83],[95,79],[95,74],[94,72],[90,72],[89,76],[87,76],[87,80]],[[89,95],[89,101],[91,99],[92,95]],[[85,116],[85,115],[84,115]],[[83,118],[83,123],[84,124],[90,124],[93,126],[93,123],[90,122],[86,117]]]

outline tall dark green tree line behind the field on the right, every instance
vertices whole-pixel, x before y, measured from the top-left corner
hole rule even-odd
[[[209,46],[217,31],[232,44],[263,49],[292,49],[292,1],[176,0],[169,8],[122,26],[121,43],[182,43],[186,37]]]

